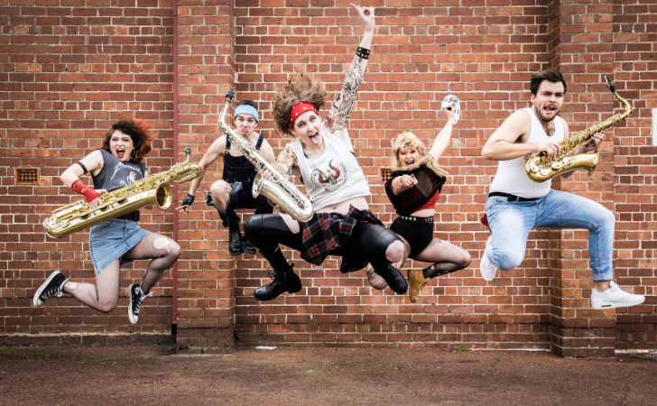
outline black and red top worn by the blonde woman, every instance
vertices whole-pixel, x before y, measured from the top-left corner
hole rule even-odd
[[[415,175],[418,184],[395,195],[392,188],[393,180],[402,175]],[[438,175],[426,166],[421,166],[412,171],[393,171],[391,179],[385,182],[385,193],[393,203],[398,215],[411,216],[421,208],[429,208],[431,200],[433,201],[431,207],[433,207],[444,184],[444,176]]]

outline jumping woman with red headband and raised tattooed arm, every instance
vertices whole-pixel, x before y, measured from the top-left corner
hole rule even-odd
[[[338,101],[328,113],[330,130],[318,114],[326,101],[326,90],[319,80],[301,75],[296,83],[277,89],[273,99],[274,126],[297,138],[281,152],[276,169],[284,176],[300,177],[314,198],[315,214],[306,223],[280,214],[253,216],[246,221],[245,234],[273,268],[273,282],[254,291],[257,300],[301,291],[301,280],[279,243],[301,251],[301,258],[316,265],[328,255],[340,255],[342,272],[357,271],[371,262],[393,291],[403,294],[408,290],[402,273],[392,264],[403,258],[402,240],[369,210],[369,186],[347,133],[347,119],[363,81],[375,31],[374,9],[352,6],[365,34]],[[265,171],[263,175],[271,179],[271,173]]]

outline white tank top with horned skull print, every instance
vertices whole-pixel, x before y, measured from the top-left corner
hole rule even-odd
[[[324,153],[316,160],[306,157],[301,140],[287,144],[297,155],[306,192],[315,198],[315,210],[326,208],[349,198],[369,196],[370,189],[356,156],[349,152],[324,125],[321,126]]]

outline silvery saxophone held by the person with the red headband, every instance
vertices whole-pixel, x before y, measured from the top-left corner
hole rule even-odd
[[[303,195],[293,183],[276,171],[269,162],[264,161],[263,157],[255,151],[251,143],[246,141],[242,135],[237,134],[230,125],[226,124],[224,117],[226,117],[228,106],[230,106],[230,102],[234,96],[235,88],[230,90],[226,95],[226,104],[219,115],[219,126],[230,137],[230,143],[235,145],[245,158],[253,163],[255,171],[258,171],[258,174],[255,175],[254,187],[251,189],[254,198],[263,195],[269,198],[274,206],[279,208],[283,213],[289,214],[295,220],[302,222],[310,220],[314,213],[312,200]],[[260,171],[264,170],[272,172],[272,180],[263,178]]]

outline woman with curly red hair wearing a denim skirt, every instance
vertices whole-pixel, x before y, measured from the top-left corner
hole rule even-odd
[[[130,185],[148,176],[144,156],[151,152],[154,135],[141,120],[121,120],[107,131],[103,146],[72,164],[60,180],[87,198],[90,207],[103,204],[102,193]],[[91,174],[94,188],[79,178]],[[121,281],[121,265],[134,260],[151,259],[141,285],[129,288],[128,317],[136,323],[143,300],[153,295],[151,288],[160,281],[180,255],[180,245],[163,235],[139,227],[139,211],[115,217],[91,226],[89,251],[96,271],[96,284],[69,281],[59,271],[51,273],[34,295],[34,306],[44,300],[68,293],[90,308],[104,313],[116,308]]]

